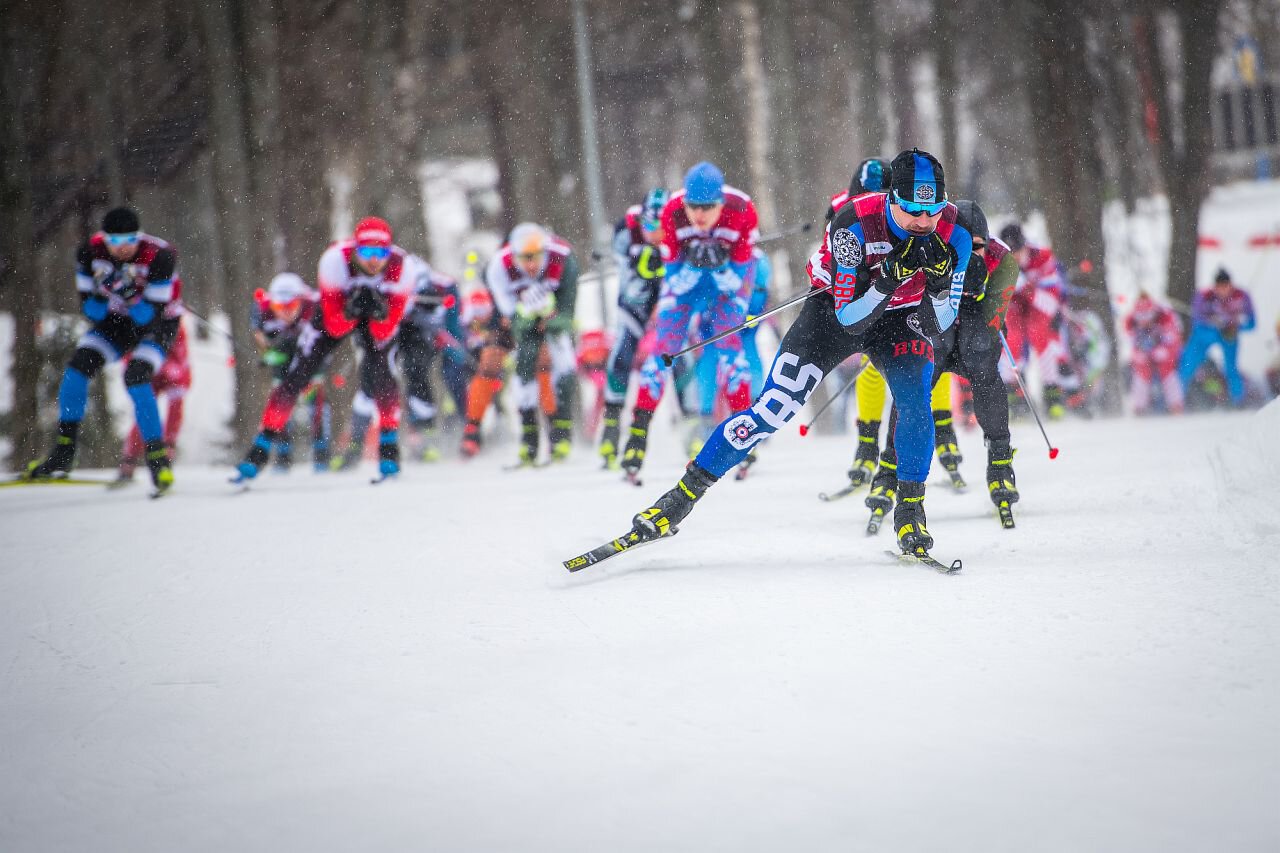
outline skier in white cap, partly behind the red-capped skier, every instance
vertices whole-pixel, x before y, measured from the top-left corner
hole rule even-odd
[[[315,321],[316,298],[315,291],[296,273],[275,275],[266,291],[260,289],[253,295],[250,328],[253,329],[253,343],[257,345],[262,365],[271,370],[273,387],[279,386],[288,373],[302,330]],[[324,388],[326,368],[328,364],[320,364],[302,392],[311,406],[311,461],[316,471],[329,467],[330,418]],[[288,471],[293,465],[293,430],[288,423],[280,430],[280,441],[274,451],[275,469]]]

